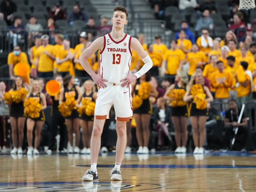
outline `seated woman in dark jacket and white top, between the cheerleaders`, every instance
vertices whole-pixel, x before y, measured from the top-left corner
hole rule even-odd
[[[159,97],[156,101],[157,108],[154,109],[153,117],[155,130],[158,132],[158,146],[164,145],[164,137],[169,141],[172,140],[168,127],[171,125],[171,112],[166,108],[163,97]]]

